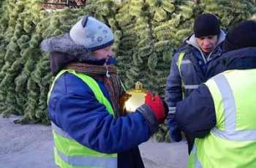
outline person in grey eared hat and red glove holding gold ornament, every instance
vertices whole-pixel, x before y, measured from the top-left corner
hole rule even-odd
[[[113,66],[113,42],[110,28],[86,15],[64,37],[41,43],[55,76],[48,112],[59,167],[144,167],[138,145],[157,131],[167,108],[148,92],[146,104],[120,116],[124,86]]]

